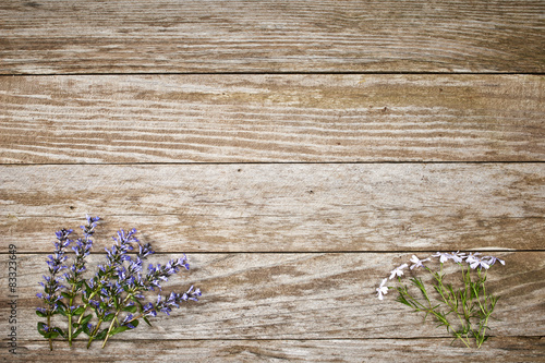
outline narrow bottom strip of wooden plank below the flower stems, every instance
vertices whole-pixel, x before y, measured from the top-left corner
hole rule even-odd
[[[83,347],[55,351],[43,341],[24,341],[17,355],[0,351],[10,362],[543,362],[544,339],[491,338],[480,350],[449,346],[447,339],[350,339],[350,340],[149,340],[116,341],[105,350]]]

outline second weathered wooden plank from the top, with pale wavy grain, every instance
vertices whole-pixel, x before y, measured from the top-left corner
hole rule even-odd
[[[0,77],[0,162],[545,160],[531,75]]]

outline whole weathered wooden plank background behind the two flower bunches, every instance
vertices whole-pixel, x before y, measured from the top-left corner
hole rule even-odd
[[[0,3],[2,361],[545,361],[543,1]],[[53,232],[104,219],[203,298],[51,353]],[[8,246],[17,249],[17,355]],[[468,350],[375,298],[413,253],[505,258]],[[399,306],[398,306],[399,305]]]

